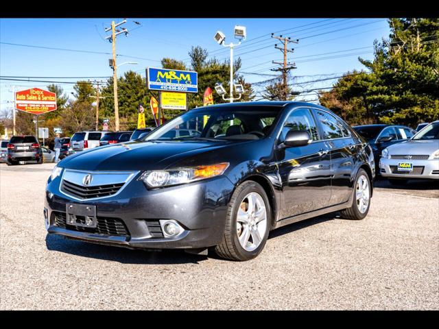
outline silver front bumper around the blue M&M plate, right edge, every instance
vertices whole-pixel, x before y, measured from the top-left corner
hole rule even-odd
[[[413,171],[397,171],[400,162],[412,162]],[[439,160],[401,160],[386,159],[379,160],[379,172],[383,177],[405,178],[405,179],[433,179],[439,180]]]

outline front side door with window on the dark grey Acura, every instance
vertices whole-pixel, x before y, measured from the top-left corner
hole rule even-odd
[[[276,149],[282,182],[280,219],[329,205],[331,198],[331,158],[327,143],[320,140],[317,125],[308,108],[293,110],[283,124],[278,145],[289,130],[307,130],[313,141],[301,147]]]

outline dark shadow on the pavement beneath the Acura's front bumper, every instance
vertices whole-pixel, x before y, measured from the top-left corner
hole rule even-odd
[[[174,265],[174,264],[199,264],[207,260],[207,256],[187,254],[182,250],[146,251],[141,249],[128,249],[98,245],[78,240],[64,238],[56,234],[47,234],[47,249],[64,252],[75,256],[110,260],[122,264],[139,265]]]

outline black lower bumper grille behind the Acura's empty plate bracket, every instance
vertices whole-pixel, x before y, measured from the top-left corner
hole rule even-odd
[[[86,228],[83,226],[68,225],[65,212],[54,211],[52,212],[52,216],[54,217],[54,223],[58,228],[77,232],[102,234],[106,236],[130,236],[130,232],[125,223],[119,218],[97,217],[97,226],[95,228]]]

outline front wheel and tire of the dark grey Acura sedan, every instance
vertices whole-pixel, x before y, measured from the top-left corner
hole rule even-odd
[[[254,204],[251,208],[261,215],[251,217],[250,200],[254,201],[251,202]],[[265,214],[262,206],[265,206]],[[246,223],[242,221],[244,218]],[[267,242],[271,223],[270,202],[262,186],[252,180],[242,183],[236,188],[228,204],[224,236],[221,243],[215,247],[215,252],[218,256],[230,260],[244,261],[255,258]],[[239,237],[246,247],[241,245]]]

